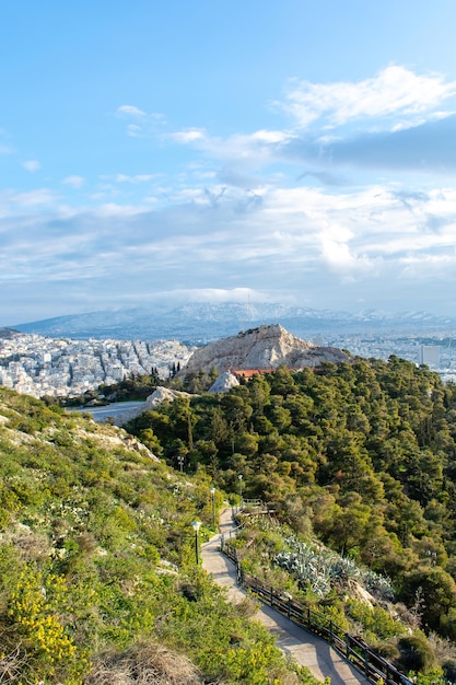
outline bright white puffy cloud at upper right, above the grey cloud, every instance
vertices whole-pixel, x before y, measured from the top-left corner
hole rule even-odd
[[[423,115],[455,93],[456,82],[446,82],[441,74],[419,76],[405,67],[390,66],[358,82],[296,81],[282,107],[302,128],[321,118],[329,126],[340,126],[363,118]]]

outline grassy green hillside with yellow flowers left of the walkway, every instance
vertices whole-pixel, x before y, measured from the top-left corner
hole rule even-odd
[[[314,683],[196,567],[212,484],[0,388],[0,682]]]

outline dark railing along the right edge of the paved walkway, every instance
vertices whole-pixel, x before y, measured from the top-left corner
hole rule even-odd
[[[234,537],[236,531],[232,531],[232,533]],[[224,536],[221,537],[221,552],[235,564],[238,584],[296,625],[329,642],[371,683],[377,684],[383,681],[385,685],[414,685],[413,681],[398,671],[386,659],[374,653],[361,637],[346,632],[323,614],[299,604],[291,596],[278,592],[271,585],[262,583],[258,578],[245,573],[241,568],[237,548],[226,542]]]

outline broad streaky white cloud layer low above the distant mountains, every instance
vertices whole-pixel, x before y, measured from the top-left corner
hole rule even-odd
[[[70,214],[46,190],[2,194],[1,278],[13,292],[14,274],[26,276],[32,311],[56,281],[61,292],[79,283],[131,301],[169,289],[183,301],[190,291],[223,301],[250,290],[334,309],[362,292],[372,305],[383,299],[395,310],[407,307],[405,292],[432,292],[445,277],[440,309],[454,310],[454,189],[404,191],[417,198],[405,202],[397,187],[328,193],[271,186],[254,204],[252,193],[222,189],[183,188],[157,209],[112,202]],[[439,221],[424,231],[430,214]]]

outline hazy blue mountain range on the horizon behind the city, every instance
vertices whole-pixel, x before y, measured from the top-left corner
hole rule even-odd
[[[279,322],[305,339],[320,333],[435,332],[456,328],[456,318],[409,311],[358,314],[280,303],[195,302],[178,307],[154,306],[58,316],[15,326],[22,333],[50,337],[156,340],[175,338],[207,342],[239,330]]]

